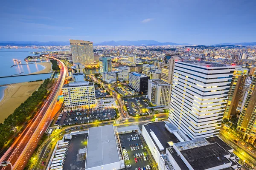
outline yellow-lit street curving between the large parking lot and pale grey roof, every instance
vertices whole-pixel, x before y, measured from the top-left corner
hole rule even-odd
[[[168,114],[169,113],[159,113],[157,114],[157,118],[158,119],[168,119]],[[143,117],[136,117],[134,119],[123,119],[122,121],[119,121],[120,124],[116,125],[115,124],[115,121],[107,121],[107,122],[99,122],[99,123],[93,123],[93,124],[84,124],[84,125],[75,125],[75,126],[71,126],[71,127],[64,127],[62,128],[62,130],[58,131],[58,133],[54,133],[50,136],[49,139],[47,139],[47,142],[44,143],[44,146],[42,148],[42,151],[39,155],[39,158],[37,159],[37,162],[36,162],[36,165],[34,168],[32,168],[32,170],[40,170],[42,169],[41,168],[41,163],[42,161],[47,157],[48,154],[52,154],[52,150],[53,148],[55,147],[55,142],[58,140],[58,139],[62,139],[62,132],[63,130],[65,130],[66,132],[69,131],[69,130],[72,130],[72,131],[77,131],[79,130],[79,127],[83,127],[83,130],[87,127],[93,127],[95,125],[106,125],[108,124],[108,122],[110,122],[111,124],[114,124],[115,126],[129,126],[129,125],[143,125],[145,123],[147,123],[148,121],[151,121],[152,120],[152,115],[150,116],[143,116]],[[78,127],[78,128],[76,128]],[[54,140],[52,140],[54,139]],[[51,147],[51,143],[53,143],[53,146]],[[49,153],[48,153],[49,152]],[[48,164],[48,162],[46,161],[46,164]]]

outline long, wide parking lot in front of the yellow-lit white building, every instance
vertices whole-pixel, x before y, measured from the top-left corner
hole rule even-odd
[[[67,111],[62,112],[58,115],[57,120],[55,120],[55,125],[75,125],[92,123],[97,121],[107,121],[111,120],[116,116],[116,111],[114,108],[91,108],[84,109],[81,111]]]

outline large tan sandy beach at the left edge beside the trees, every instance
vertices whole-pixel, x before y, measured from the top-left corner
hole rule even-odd
[[[22,82],[8,85],[4,91],[3,100],[0,102],[0,123],[36,91],[43,81]]]

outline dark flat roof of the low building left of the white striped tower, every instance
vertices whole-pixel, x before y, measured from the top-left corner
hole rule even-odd
[[[149,136],[151,137],[152,141],[154,141],[158,151],[159,152],[161,151],[164,154],[166,152],[166,148],[170,147],[168,142],[173,142],[173,143],[180,142],[179,139],[177,139],[177,137],[173,133],[170,133],[166,129],[165,125],[166,125],[165,122],[153,122],[153,123],[148,123],[143,125],[149,134],[151,131],[154,132],[155,136],[157,137],[159,142],[162,144],[164,150],[160,150],[160,148],[157,146],[157,143],[155,142],[155,139],[153,138],[153,136],[151,136],[151,134]]]

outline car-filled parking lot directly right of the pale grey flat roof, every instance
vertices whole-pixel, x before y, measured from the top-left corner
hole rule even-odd
[[[150,170],[150,161],[137,133],[119,134],[125,166],[136,170]],[[128,159],[127,159],[128,156]],[[149,166],[149,167],[148,167]]]

